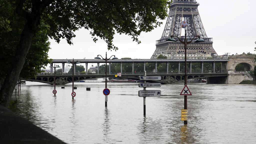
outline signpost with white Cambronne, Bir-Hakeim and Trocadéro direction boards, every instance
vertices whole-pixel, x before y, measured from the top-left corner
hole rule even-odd
[[[139,80],[143,80],[144,83],[140,83],[139,87],[143,87],[143,90],[138,91],[138,96],[143,97],[143,115],[146,115],[146,97],[160,97],[161,90],[146,90],[146,87],[161,87],[161,83],[146,83],[146,80],[161,80],[161,76],[146,76],[144,71],[143,76],[139,76]]]

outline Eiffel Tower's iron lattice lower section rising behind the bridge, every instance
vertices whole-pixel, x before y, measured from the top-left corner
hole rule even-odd
[[[184,44],[177,42],[168,42],[166,39],[171,35],[180,37],[184,41],[184,36],[181,36],[181,22],[187,22],[187,41],[190,41],[193,36],[199,35],[205,42],[191,43],[187,45],[188,59],[207,58],[217,56],[212,47],[212,38],[208,38],[204,26],[202,24],[199,12],[199,3],[196,0],[173,0],[169,7],[169,14],[165,24],[164,32],[161,39],[156,40],[156,50],[151,59],[157,58],[158,55],[167,56],[167,58],[185,58]],[[194,39],[196,40],[196,38]]]

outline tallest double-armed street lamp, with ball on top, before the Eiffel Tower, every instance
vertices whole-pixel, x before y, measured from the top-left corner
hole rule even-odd
[[[182,21],[182,24],[183,23],[186,24],[187,22]],[[186,27],[187,27],[187,25],[182,25],[182,28],[185,29]],[[175,40],[173,37],[177,37],[177,36],[172,35],[171,38],[166,39],[166,41],[177,42],[177,40]],[[195,37],[199,38],[195,41],[195,43],[205,42],[205,40],[200,39],[200,36],[194,36],[189,42],[187,42],[186,29],[185,29],[185,39],[184,39],[184,41],[182,41],[179,37],[177,37],[179,39],[180,43],[184,44],[184,49],[185,49],[185,76],[184,76],[185,79],[184,79],[184,85],[187,84],[187,45],[190,44]],[[185,95],[184,96],[184,109],[187,109],[187,108],[188,108],[188,106],[187,106],[187,96]],[[188,124],[188,121],[184,120],[184,124]]]

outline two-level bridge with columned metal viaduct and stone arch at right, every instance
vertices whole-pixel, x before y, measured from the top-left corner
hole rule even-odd
[[[187,59],[187,63],[189,63],[189,71],[188,79],[196,79],[196,78],[207,78],[207,83],[216,83],[216,84],[238,84],[242,80],[252,80],[253,76],[249,74],[247,71],[253,71],[255,66],[254,55],[246,55],[245,53],[241,55],[231,55],[228,58],[209,58],[209,59]],[[72,59],[54,59],[51,63],[61,63],[62,64],[62,74],[56,76],[56,83],[59,85],[68,84],[72,82],[72,75],[68,73],[64,73],[64,67],[67,61],[72,61]],[[74,81],[92,79],[92,78],[105,78],[105,73],[88,74],[88,63],[97,63],[98,67],[100,63],[105,63],[102,59],[74,59],[74,61],[79,61],[80,63],[86,64],[86,74],[85,75],[74,75]],[[180,73],[180,64],[185,63],[185,59],[110,59],[108,60],[109,64],[109,72],[107,73],[108,78],[115,78],[115,74],[111,73],[111,64],[120,63],[121,69],[120,72],[122,74],[122,78],[136,79],[138,80],[138,76],[143,75],[143,73],[135,73],[134,71],[134,63],[142,63],[144,65],[144,71],[146,70],[146,63],[155,63],[155,72],[148,73],[147,75],[160,75],[162,76],[161,82],[163,84],[171,84],[175,82],[179,82],[184,80],[184,73]],[[122,64],[123,63],[132,63],[132,71],[129,73],[122,72]],[[158,73],[157,72],[157,64],[158,63],[166,63],[166,72]],[[178,64],[178,72],[170,73],[169,72],[169,63],[177,63]],[[192,63],[200,63],[201,71],[191,73]],[[212,71],[208,73],[203,70],[204,63],[212,63]],[[215,71],[215,63],[221,63],[221,70]],[[235,71],[235,67],[238,64],[243,64],[245,66],[245,71]],[[76,69],[76,65],[74,65],[74,70]],[[24,79],[30,81],[38,81],[47,84],[54,83],[54,74],[51,73],[45,75],[38,74],[36,78]]]

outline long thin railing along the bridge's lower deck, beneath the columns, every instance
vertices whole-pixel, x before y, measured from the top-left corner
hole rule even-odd
[[[238,72],[238,71],[237,71]],[[187,74],[210,74],[210,73],[228,73],[227,70],[221,70],[221,71],[192,71],[187,72]],[[107,73],[109,75],[109,73]],[[110,73],[110,75],[115,75],[117,73]],[[143,72],[134,72],[134,73],[122,73],[122,75],[129,75],[129,74],[139,74],[143,75]],[[166,72],[147,72],[147,74],[167,74]],[[185,71],[180,72],[169,72],[168,74],[185,74]],[[54,75],[54,73],[38,73],[37,75]],[[56,73],[55,75],[72,75],[72,73]],[[105,73],[74,73],[74,75],[105,75]]]

